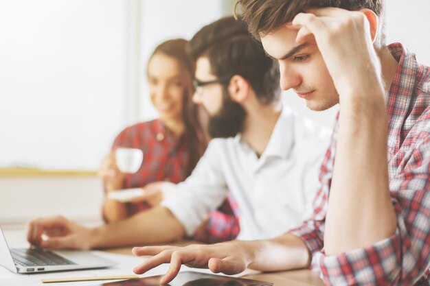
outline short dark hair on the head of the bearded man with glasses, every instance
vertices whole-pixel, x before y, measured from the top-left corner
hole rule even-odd
[[[278,62],[267,57],[245,23],[233,16],[201,28],[190,40],[188,50],[194,60],[206,56],[218,78],[241,75],[263,104],[280,97]]]

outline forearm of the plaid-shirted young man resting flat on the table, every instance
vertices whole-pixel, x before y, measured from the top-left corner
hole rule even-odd
[[[302,239],[285,234],[270,240],[244,241],[252,250],[249,268],[260,271],[281,271],[308,267],[310,253]]]

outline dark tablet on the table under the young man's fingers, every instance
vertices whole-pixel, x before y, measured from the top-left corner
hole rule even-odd
[[[159,286],[162,276],[150,276],[139,279],[111,282],[100,284],[100,286]],[[170,286],[269,286],[271,282],[251,280],[245,278],[234,278],[231,276],[220,276],[199,272],[179,272]]]

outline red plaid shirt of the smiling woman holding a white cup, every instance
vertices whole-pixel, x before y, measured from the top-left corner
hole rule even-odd
[[[125,175],[124,189],[144,187],[150,182],[163,180],[177,184],[186,178],[189,156],[185,139],[182,136],[177,142],[158,119],[124,129],[113,142],[112,149],[116,147],[133,147],[144,152],[139,171]],[[146,202],[126,204],[128,216],[150,208]],[[206,243],[236,238],[239,222],[231,206],[236,206],[236,202],[232,198],[226,198],[217,211],[210,213],[206,226],[200,228],[193,238]]]

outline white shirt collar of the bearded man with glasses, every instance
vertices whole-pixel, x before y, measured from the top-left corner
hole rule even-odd
[[[276,121],[275,128],[273,128],[269,142],[266,149],[260,158],[267,157],[280,157],[288,158],[293,145],[293,128],[294,128],[294,114],[293,111],[284,106],[278,121]],[[234,141],[241,143],[251,149],[249,145],[242,139],[239,133],[234,137]]]

